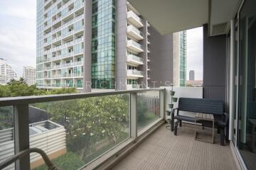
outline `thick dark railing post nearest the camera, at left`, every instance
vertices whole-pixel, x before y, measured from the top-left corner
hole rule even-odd
[[[14,150],[15,154],[29,149],[28,129],[28,104],[17,104],[14,106]],[[15,163],[16,170],[30,169],[30,156],[18,159]]]

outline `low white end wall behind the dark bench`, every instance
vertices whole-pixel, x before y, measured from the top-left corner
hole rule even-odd
[[[171,103],[171,87],[164,87],[166,89],[165,91],[165,102],[166,102],[166,111],[171,111],[169,108],[169,103]],[[181,98],[203,98],[203,87],[178,87],[174,86],[174,97]],[[174,108],[178,108],[178,101],[174,103]],[[192,115],[194,113],[188,113],[188,112],[180,112],[181,115]],[[170,116],[166,115],[166,119],[170,118]]]

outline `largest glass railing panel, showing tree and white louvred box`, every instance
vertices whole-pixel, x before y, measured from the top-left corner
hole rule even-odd
[[[79,169],[130,137],[129,94],[30,106],[30,147],[43,149],[60,169]],[[38,154],[31,166],[46,169]]]

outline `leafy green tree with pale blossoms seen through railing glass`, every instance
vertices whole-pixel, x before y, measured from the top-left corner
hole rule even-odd
[[[128,137],[129,100],[126,99],[122,95],[102,96],[41,103],[36,107],[50,113],[50,120],[56,123],[67,122],[68,149],[86,159],[96,142],[109,140],[116,145]]]

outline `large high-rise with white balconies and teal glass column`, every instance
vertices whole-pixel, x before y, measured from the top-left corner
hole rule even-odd
[[[127,0],[37,1],[38,87],[149,87],[154,28]]]

